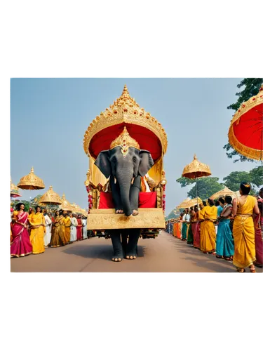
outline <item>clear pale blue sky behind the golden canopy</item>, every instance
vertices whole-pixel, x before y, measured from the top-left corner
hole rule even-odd
[[[88,157],[83,135],[93,119],[119,98],[124,84],[130,96],[163,125],[168,135],[165,156],[166,215],[187,197],[182,175],[196,153],[212,176],[222,180],[231,171],[250,171],[259,163],[236,163],[223,146],[236,102],[234,78],[34,78],[13,77],[10,84],[10,171],[13,183],[34,166],[44,190],[21,191],[28,200],[53,185],[60,196],[87,207],[84,186]]]

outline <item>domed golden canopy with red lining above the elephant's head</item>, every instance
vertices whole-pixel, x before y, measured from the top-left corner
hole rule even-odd
[[[154,161],[166,153],[167,135],[161,123],[145,112],[130,97],[127,86],[124,86],[121,97],[88,126],[83,139],[86,154],[96,159],[102,150],[109,150],[110,144],[120,135],[124,126],[141,149],[151,152]]]

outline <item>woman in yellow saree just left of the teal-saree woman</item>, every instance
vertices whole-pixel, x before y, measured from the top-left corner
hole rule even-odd
[[[215,224],[217,220],[217,208],[214,201],[208,199],[208,206],[199,211],[201,218],[200,249],[203,253],[215,253]]]

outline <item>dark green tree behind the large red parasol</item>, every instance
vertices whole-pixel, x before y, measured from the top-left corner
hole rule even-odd
[[[252,98],[252,96],[257,95],[259,92],[260,86],[263,84],[263,77],[245,77],[240,84],[238,84],[238,88],[242,88],[244,86],[244,90],[236,93],[238,96],[238,100],[233,104],[227,107],[228,110],[234,110],[235,112],[238,110],[240,105]],[[238,159],[234,159],[234,163],[238,161],[250,161],[254,162],[252,159],[247,159],[247,157],[239,154],[236,150],[231,147],[229,143],[224,145],[224,150],[226,150],[227,157],[229,159],[233,159],[234,157],[238,157]]]

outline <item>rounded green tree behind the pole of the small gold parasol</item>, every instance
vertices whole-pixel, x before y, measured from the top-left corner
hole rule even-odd
[[[201,199],[208,199],[208,197],[215,194],[215,192],[219,192],[220,190],[224,189],[224,186],[218,183],[219,178],[217,177],[203,177],[199,178],[188,192],[188,196],[191,199],[196,197],[196,186],[197,186],[197,196]]]

